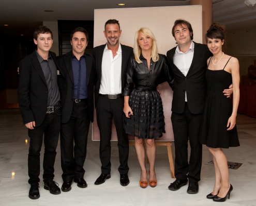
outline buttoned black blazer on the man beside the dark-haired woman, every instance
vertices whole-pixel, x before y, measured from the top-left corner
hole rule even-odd
[[[206,45],[194,42],[194,55],[188,74],[185,77],[173,63],[176,47],[167,52],[167,59],[174,74],[172,111],[178,114],[184,112],[185,92],[187,92],[187,104],[193,114],[203,113],[206,82],[205,72],[207,59],[212,56]]]

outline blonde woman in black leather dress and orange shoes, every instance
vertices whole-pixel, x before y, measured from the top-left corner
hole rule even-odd
[[[127,67],[127,81],[124,89],[124,130],[134,135],[134,145],[141,166],[140,186],[148,185],[145,167],[145,148],[149,161],[149,186],[157,185],[155,173],[156,145],[154,138],[160,138],[164,130],[164,116],[157,85],[171,79],[167,59],[157,53],[152,31],[141,28],[135,33],[134,56]],[[134,87],[135,85],[135,87]]]

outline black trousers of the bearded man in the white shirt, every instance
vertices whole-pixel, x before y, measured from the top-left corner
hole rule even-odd
[[[117,146],[119,150],[120,166],[118,171],[120,174],[128,174],[128,156],[129,156],[129,141],[128,135],[123,131],[123,112],[124,98],[108,99],[99,96],[96,108],[97,123],[100,131],[100,161],[101,173],[110,174],[111,170],[111,133],[112,133],[112,118],[117,133]]]

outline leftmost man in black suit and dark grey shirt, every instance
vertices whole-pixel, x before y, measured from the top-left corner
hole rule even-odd
[[[43,182],[44,189],[57,195],[61,190],[53,181],[56,147],[61,128],[61,106],[57,85],[56,55],[52,47],[52,32],[39,26],[34,32],[37,49],[20,61],[18,88],[19,106],[23,123],[28,128],[28,183],[29,198],[38,199],[40,150],[44,135]]]

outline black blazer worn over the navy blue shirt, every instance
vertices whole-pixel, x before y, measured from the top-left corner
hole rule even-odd
[[[58,87],[61,94],[62,105],[62,123],[67,123],[71,117],[73,108],[73,71],[72,71],[72,50],[62,56],[57,57],[57,63],[59,65],[58,75]],[[95,61],[94,58],[85,54],[86,61],[86,75],[87,75],[87,95],[88,95],[88,107],[89,117],[93,122],[93,89],[94,89],[94,76],[95,76]]]

